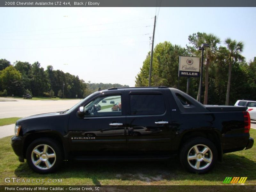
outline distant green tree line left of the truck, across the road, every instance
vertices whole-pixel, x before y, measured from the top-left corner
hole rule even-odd
[[[36,97],[84,98],[99,88],[121,86],[85,83],[78,76],[53,70],[51,65],[44,70],[38,61],[33,64],[16,61],[11,65],[6,59],[0,60],[0,96],[22,96],[29,93]]]

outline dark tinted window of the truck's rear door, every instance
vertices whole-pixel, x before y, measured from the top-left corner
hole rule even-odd
[[[131,94],[131,115],[160,115],[165,112],[163,95]]]

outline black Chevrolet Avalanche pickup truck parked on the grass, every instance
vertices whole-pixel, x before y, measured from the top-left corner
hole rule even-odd
[[[106,103],[102,103],[106,100]],[[111,100],[119,110],[111,110]],[[15,124],[12,148],[39,173],[75,160],[154,160],[173,154],[189,172],[210,171],[223,153],[252,148],[245,107],[202,105],[178,89],[110,88],[74,107]]]

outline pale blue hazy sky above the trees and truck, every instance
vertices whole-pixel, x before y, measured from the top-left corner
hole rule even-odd
[[[155,7],[0,8],[0,59],[52,65],[85,82],[134,86],[150,51]],[[196,32],[243,41],[256,57],[256,8],[161,7],[155,45],[183,47]]]

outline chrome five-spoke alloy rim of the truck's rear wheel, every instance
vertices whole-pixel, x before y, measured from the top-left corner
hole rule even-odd
[[[205,169],[212,163],[212,151],[203,144],[193,146],[188,151],[188,163],[196,170]]]

